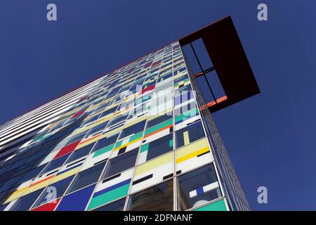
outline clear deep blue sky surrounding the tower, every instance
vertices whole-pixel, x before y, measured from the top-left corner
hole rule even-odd
[[[55,3],[58,21],[46,20]],[[268,21],[256,18],[268,5]],[[253,210],[315,210],[316,3],[2,0],[0,124],[231,15],[261,94],[213,114]],[[268,188],[268,204],[256,201]]]

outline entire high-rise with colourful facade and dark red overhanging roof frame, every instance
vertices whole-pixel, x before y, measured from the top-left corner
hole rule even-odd
[[[249,210],[211,113],[258,92],[223,18],[2,125],[0,210]]]

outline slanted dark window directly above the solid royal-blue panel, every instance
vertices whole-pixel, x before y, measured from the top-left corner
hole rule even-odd
[[[104,166],[105,163],[103,162],[99,165],[96,165],[95,167],[86,169],[83,172],[77,174],[67,193],[77,191],[80,188],[84,188],[85,186],[88,186],[89,184],[93,184],[96,181],[98,181]]]

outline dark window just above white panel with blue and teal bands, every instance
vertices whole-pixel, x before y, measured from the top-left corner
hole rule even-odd
[[[124,170],[135,166],[137,153],[138,148],[119,155],[116,158],[112,158],[107,165],[103,178],[118,174],[119,172],[123,172]]]

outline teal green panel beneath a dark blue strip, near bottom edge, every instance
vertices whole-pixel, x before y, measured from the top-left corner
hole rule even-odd
[[[125,184],[124,186],[121,186],[119,188],[116,188],[112,191],[108,191],[107,193],[103,193],[102,195],[99,195],[96,198],[92,198],[88,210],[91,210],[95,207],[98,207],[100,205],[103,205],[105,203],[110,203],[113,200],[116,200],[117,198],[121,198],[129,192],[129,184]]]

